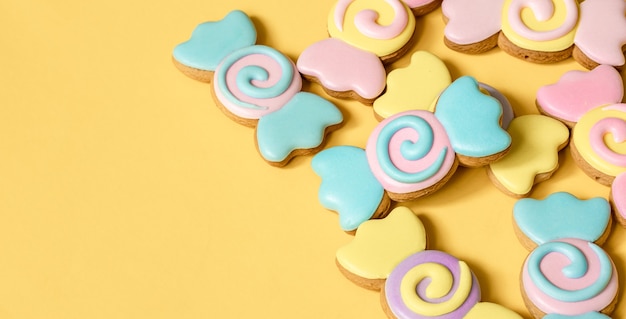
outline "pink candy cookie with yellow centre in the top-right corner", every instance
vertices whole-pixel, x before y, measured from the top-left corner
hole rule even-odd
[[[624,65],[623,0],[445,0],[442,10],[444,42],[456,51],[482,53],[497,44],[535,63],[573,55],[588,69]]]

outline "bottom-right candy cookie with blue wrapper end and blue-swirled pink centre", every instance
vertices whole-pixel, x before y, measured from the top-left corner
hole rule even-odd
[[[554,193],[544,200],[525,198],[515,204],[514,216],[520,240],[527,248],[534,247],[521,275],[522,296],[534,318],[548,318],[546,314],[595,318],[602,317],[595,313],[613,311],[618,274],[599,246],[610,230],[605,199],[581,200],[569,193]]]

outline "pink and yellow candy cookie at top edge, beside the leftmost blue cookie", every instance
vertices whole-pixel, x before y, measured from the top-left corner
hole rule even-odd
[[[302,75],[337,98],[372,105],[383,93],[384,64],[405,54],[415,33],[415,15],[441,0],[337,0],[327,19],[330,39],[307,47],[297,61]]]

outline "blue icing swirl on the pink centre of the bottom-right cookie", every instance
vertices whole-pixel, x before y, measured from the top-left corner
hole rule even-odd
[[[563,268],[563,275],[577,279],[583,277],[588,269],[587,258],[576,246],[564,242],[549,242],[537,247],[528,257],[528,275],[540,291],[564,302],[579,302],[591,299],[602,292],[609,284],[613,274],[613,264],[609,256],[594,243],[588,243],[600,261],[600,275],[589,286],[578,290],[566,290],[555,286],[541,271],[541,260],[550,253],[559,253],[570,260]]]

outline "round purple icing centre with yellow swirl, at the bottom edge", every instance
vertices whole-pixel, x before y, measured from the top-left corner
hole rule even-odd
[[[463,318],[480,300],[476,277],[463,261],[435,250],[409,256],[389,275],[385,298],[397,318]]]

